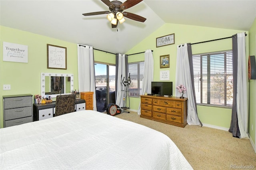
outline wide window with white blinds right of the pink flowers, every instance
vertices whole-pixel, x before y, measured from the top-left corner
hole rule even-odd
[[[231,107],[232,50],[193,55],[192,60],[197,104]]]

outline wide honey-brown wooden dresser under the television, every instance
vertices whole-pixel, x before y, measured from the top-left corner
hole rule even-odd
[[[185,127],[187,125],[187,100],[180,97],[141,95],[140,117]]]

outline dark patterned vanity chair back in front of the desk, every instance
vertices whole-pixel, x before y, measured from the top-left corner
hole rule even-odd
[[[75,111],[76,94],[56,96],[54,117]]]

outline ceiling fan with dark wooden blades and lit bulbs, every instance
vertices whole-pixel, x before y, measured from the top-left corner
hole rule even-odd
[[[130,12],[123,12],[124,10],[127,10],[128,8],[140,3],[142,0],[126,0],[124,3],[114,0],[110,2],[110,0],[101,0],[109,7],[110,11],[100,11],[100,12],[90,12],[83,14],[84,16],[92,16],[92,15],[100,15],[100,14],[108,14],[107,18],[112,24],[112,28],[116,28],[118,25],[118,22],[122,24],[126,18],[130,18],[135,21],[144,22],[146,21],[146,18],[132,14]]]

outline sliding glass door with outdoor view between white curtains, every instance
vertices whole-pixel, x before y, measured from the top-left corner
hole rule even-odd
[[[108,63],[94,64],[95,69],[95,94],[97,111],[104,112],[109,103],[115,100],[116,66]]]

